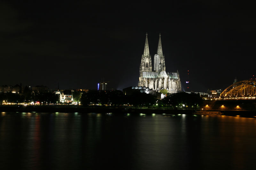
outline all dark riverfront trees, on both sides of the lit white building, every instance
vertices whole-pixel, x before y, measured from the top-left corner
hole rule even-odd
[[[135,91],[130,95],[124,95],[120,90],[114,91],[96,91],[88,92],[74,91],[73,100],[80,102],[83,106],[100,105],[100,106],[123,106],[129,105],[137,108],[141,107],[167,107],[167,108],[196,108],[202,104],[202,98],[199,94],[188,94],[185,92],[166,94],[162,100],[156,96],[147,93]],[[1,92],[0,103],[31,103],[56,104],[60,103],[60,96],[52,92],[34,92],[24,89],[22,93]]]

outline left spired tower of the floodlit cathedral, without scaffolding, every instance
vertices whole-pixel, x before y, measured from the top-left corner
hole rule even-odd
[[[141,56],[141,62],[140,62],[140,77],[142,76],[142,72],[151,72],[151,71],[152,71],[152,60],[151,60],[151,55],[149,54],[149,48],[148,48],[148,33],[146,33],[144,53]]]

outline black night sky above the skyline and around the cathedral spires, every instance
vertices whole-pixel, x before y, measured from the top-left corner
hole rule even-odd
[[[152,60],[161,33],[166,71],[179,70],[183,89],[187,69],[193,91],[255,74],[252,4],[178,2],[1,1],[0,85],[138,85],[146,32]]]

